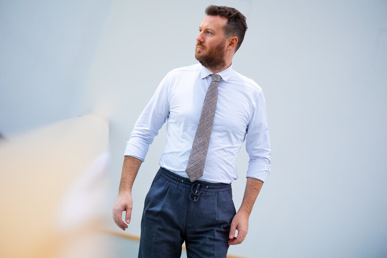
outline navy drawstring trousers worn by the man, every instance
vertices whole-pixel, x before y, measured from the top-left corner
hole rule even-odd
[[[235,207],[231,184],[193,183],[164,168],[145,198],[141,221],[141,258],[225,258]]]

